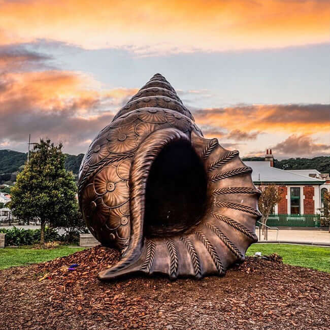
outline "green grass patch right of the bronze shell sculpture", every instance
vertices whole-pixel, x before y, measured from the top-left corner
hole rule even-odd
[[[302,266],[330,273],[330,247],[318,247],[292,244],[252,244],[246,255],[261,252],[261,255],[277,253],[283,262],[293,266]]]

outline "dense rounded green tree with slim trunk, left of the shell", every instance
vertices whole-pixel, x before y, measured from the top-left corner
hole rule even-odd
[[[62,144],[40,140],[30,153],[28,163],[17,175],[11,189],[13,214],[26,222],[39,219],[41,247],[45,247],[45,226],[56,226],[77,208],[76,184],[72,172],[64,168]]]

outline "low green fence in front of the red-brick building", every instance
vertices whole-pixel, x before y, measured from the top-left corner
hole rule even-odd
[[[267,220],[270,227],[319,227],[319,214],[271,214]]]

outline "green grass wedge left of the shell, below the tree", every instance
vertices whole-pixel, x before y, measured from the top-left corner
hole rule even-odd
[[[68,246],[60,246],[54,249],[31,249],[31,247],[20,248],[4,248],[0,249],[0,269],[9,268],[12,266],[26,265],[27,263],[38,263],[48,261],[57,257],[62,257],[81,251],[84,248]]]

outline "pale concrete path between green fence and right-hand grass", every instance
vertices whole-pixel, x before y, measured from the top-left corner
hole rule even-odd
[[[259,236],[259,230],[256,230]],[[276,229],[268,230],[268,241],[276,240]],[[258,237],[259,238],[259,237]],[[261,232],[259,241],[265,240]],[[315,242],[315,243],[328,243],[330,244],[330,233],[326,230],[286,230],[280,229],[278,232],[278,241],[292,241],[292,242]]]

